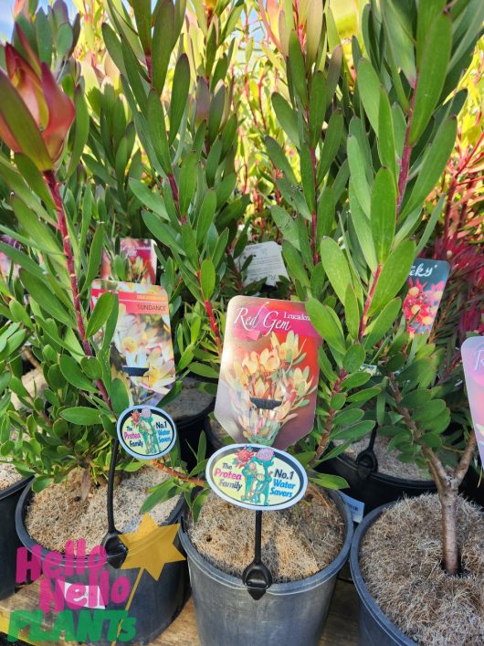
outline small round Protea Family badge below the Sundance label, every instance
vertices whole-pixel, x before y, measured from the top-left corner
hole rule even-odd
[[[161,408],[132,406],[118,419],[121,446],[134,458],[154,460],[174,448],[174,420]]]

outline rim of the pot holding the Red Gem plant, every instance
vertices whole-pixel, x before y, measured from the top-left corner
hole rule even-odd
[[[333,559],[331,564],[328,567],[316,572],[316,574],[311,575],[310,577],[302,578],[298,581],[288,581],[284,583],[273,583],[270,588],[268,588],[266,594],[272,595],[291,595],[297,594],[300,592],[306,592],[312,588],[317,588],[321,586],[322,583],[335,576],[344,565],[346,559],[348,558],[350,548],[352,545],[352,515],[348,506],[343,502],[340,492],[324,489],[326,493],[331,497],[333,502],[338,507],[338,511],[342,515],[342,519],[345,524],[345,536],[342,544],[342,548],[339,551],[338,555]],[[209,561],[202,556],[198,550],[195,548],[195,545],[190,540],[188,533],[184,527],[184,516],[182,517],[182,524],[178,531],[180,536],[180,541],[184,547],[184,551],[188,556],[188,560],[195,562],[196,566],[205,571],[209,577],[215,579],[221,585],[226,586],[227,588],[238,588],[246,590],[247,587],[242,583],[242,579],[239,577],[234,577],[233,575],[227,574],[218,567],[212,565]]]

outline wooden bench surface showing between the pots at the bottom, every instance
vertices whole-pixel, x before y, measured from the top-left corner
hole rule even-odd
[[[0,601],[0,632],[8,631],[10,612],[16,609],[36,609],[38,584],[26,586],[16,595]],[[26,640],[26,635],[22,635]],[[26,640],[27,641],[27,640]],[[28,643],[33,643],[29,642]],[[0,636],[0,643],[2,637]],[[7,643],[5,641],[5,643]],[[52,646],[53,642],[44,642]],[[65,643],[65,642],[60,642]],[[192,598],[174,623],[152,642],[157,646],[198,646],[195,611]],[[354,586],[347,580],[339,579],[334,590],[331,608],[321,638],[320,646],[357,646],[358,644],[358,598]],[[35,644],[35,646],[44,646]],[[271,646],[271,644],[268,644]]]

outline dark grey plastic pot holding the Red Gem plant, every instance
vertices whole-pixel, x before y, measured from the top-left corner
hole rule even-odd
[[[312,577],[273,584],[258,601],[248,594],[240,578],[208,563],[196,551],[182,525],[180,538],[188,556],[202,646],[316,646],[319,643],[336,577],[352,541],[351,516],[341,496],[337,492],[328,493],[346,525],[340,554],[329,567]]]

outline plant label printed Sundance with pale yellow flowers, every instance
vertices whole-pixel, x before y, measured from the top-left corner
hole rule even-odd
[[[174,386],[174,348],[168,296],[159,285],[134,282],[92,282],[91,308],[102,293],[118,294],[118,323],[112,337],[110,363],[113,376],[128,381],[128,389],[152,391],[164,397]]]

